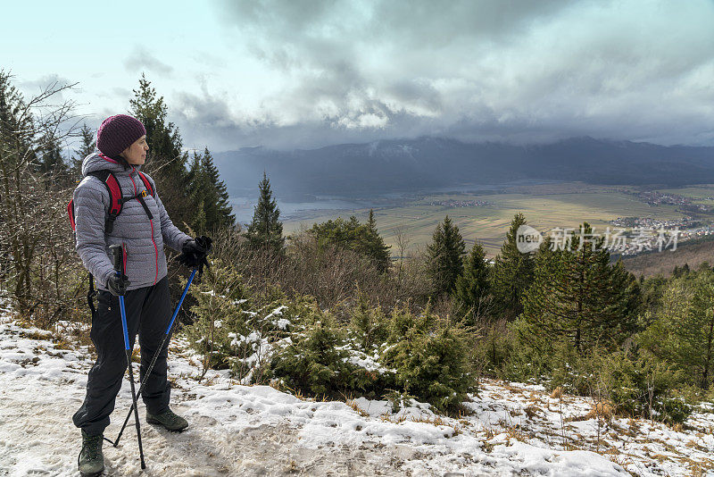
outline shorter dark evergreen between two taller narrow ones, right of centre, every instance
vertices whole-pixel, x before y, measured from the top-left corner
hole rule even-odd
[[[456,279],[453,293],[462,308],[472,310],[472,316],[484,311],[483,307],[490,293],[488,272],[484,247],[474,242],[474,247],[464,263],[463,274]]]

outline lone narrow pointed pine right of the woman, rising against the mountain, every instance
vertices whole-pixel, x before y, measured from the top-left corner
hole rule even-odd
[[[253,221],[248,226],[245,237],[252,247],[268,247],[275,252],[281,252],[285,242],[283,223],[278,221],[280,209],[272,197],[270,180],[265,172],[262,173],[258,188],[261,197],[258,199],[258,205],[255,205]]]

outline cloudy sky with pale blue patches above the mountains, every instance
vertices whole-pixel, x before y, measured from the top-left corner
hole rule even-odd
[[[185,146],[420,135],[714,146],[714,0],[12,2],[0,68],[97,127],[145,72]],[[7,21],[12,18],[12,21]]]

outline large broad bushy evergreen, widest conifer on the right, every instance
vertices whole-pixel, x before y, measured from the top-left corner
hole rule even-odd
[[[640,289],[621,262],[610,264],[604,238],[588,223],[569,247],[541,247],[533,286],[524,295],[523,317],[545,339],[566,339],[577,350],[611,346],[635,331]]]

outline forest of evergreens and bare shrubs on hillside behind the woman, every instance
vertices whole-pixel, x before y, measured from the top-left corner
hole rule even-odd
[[[69,88],[25,98],[0,71],[0,293],[46,330],[90,322],[87,272],[65,207],[95,133],[71,101],[56,104]],[[240,381],[312,397],[379,397],[396,407],[414,397],[457,415],[484,377],[594,397],[612,413],[672,425],[712,397],[710,264],[644,279],[577,236],[567,249],[545,240],[523,254],[520,213],[493,265],[478,242],[467,250],[448,216],[424,250],[405,254],[409,238],[398,238],[392,261],[371,213],[286,237],[267,174],[242,230],[208,146],[184,151],[144,76],[128,110],[145,124],[145,169],[173,222],[213,238],[212,266],[181,317],[204,372],[229,369]],[[80,146],[64,157],[72,140]],[[186,276],[170,260],[174,295]]]

